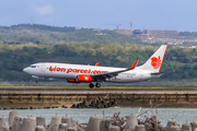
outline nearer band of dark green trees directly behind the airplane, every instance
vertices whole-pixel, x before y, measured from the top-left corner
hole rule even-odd
[[[36,62],[62,62],[106,67],[130,67],[137,59],[144,63],[159,46],[131,44],[66,43],[49,44],[0,44],[0,81],[30,81],[31,75],[22,70]],[[169,47],[158,81],[195,81],[197,79],[197,50]]]

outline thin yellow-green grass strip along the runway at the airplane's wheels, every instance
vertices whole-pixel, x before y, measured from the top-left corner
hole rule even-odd
[[[89,86],[0,86],[0,88],[89,88]],[[101,86],[100,88],[197,88],[197,86]]]

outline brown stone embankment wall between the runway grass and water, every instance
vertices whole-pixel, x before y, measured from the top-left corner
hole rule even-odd
[[[150,107],[196,108],[196,90],[1,88],[0,109]]]

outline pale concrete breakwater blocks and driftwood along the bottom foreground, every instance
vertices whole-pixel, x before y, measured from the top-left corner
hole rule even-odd
[[[121,116],[120,111],[99,118],[91,116],[89,122],[73,120],[69,116],[54,116],[50,121],[44,117],[22,117],[18,110],[12,110],[9,117],[0,118],[0,131],[197,131],[197,123],[178,124],[174,119],[167,120],[165,126],[158,118],[157,106],[143,112]]]

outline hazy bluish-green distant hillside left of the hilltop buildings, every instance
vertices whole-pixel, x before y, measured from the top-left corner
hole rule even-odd
[[[56,27],[38,24],[20,24],[10,27],[0,26],[0,43],[7,44],[61,44],[68,41],[111,43],[141,43],[128,36],[92,28]]]

